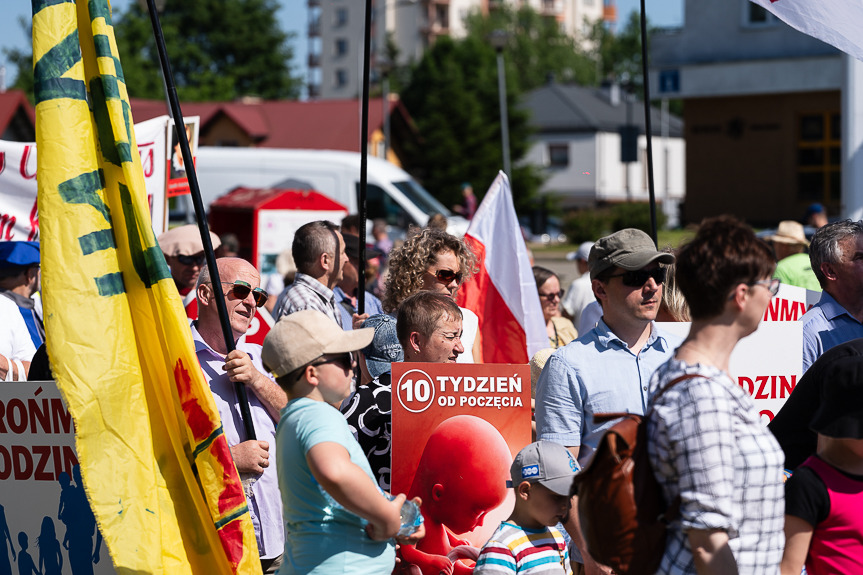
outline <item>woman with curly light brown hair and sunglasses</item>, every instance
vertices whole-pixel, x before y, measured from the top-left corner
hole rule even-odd
[[[476,256],[463,240],[442,230],[426,228],[390,252],[384,311],[394,315],[408,296],[423,290],[455,299],[459,286],[476,271]],[[474,349],[479,318],[468,309],[461,308],[461,312],[464,330],[461,343],[465,351],[458,362],[474,363],[474,356],[480,357],[479,349]]]

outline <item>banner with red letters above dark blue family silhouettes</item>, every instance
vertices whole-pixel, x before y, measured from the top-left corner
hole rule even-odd
[[[0,382],[0,573],[13,572],[116,573],[53,381]]]

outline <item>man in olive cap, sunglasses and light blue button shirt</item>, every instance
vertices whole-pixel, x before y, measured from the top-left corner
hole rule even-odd
[[[665,281],[660,263],[674,263],[674,256],[657,251],[641,230],[624,229],[600,238],[590,250],[588,267],[602,318],[595,328],[557,350],[537,382],[537,439],[564,445],[582,467],[603,432],[616,423],[599,425],[593,415],[644,415],[653,372],[682,341],[654,323]],[[576,547],[573,557],[583,562],[584,572],[610,572],[586,553],[577,513],[565,527]],[[573,572],[578,572],[575,565]]]

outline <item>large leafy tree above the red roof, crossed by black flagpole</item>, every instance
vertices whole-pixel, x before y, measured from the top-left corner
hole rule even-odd
[[[297,98],[293,34],[276,19],[275,0],[174,0],[160,17],[180,100]],[[149,16],[136,2],[115,16],[114,31],[133,97],[164,97]]]

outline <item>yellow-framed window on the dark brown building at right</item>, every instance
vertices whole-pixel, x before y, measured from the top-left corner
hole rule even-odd
[[[804,202],[837,203],[842,189],[842,141],[839,112],[799,117],[797,197]]]

